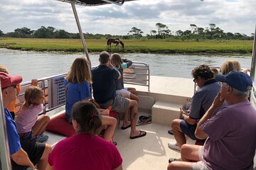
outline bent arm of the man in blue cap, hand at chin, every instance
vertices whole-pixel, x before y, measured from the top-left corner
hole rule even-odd
[[[199,123],[198,123],[198,125],[196,127],[196,131],[195,131],[195,135],[196,135],[196,137],[198,137],[198,139],[203,140],[203,139],[206,139],[206,137],[208,137],[206,132],[203,132],[201,125],[203,123],[205,123],[209,118],[211,118],[211,116],[216,111],[216,109],[223,105],[224,101],[225,100],[223,98],[221,98],[220,93],[218,93],[218,95],[215,97],[215,99],[214,99],[212,105],[210,106],[210,108],[208,109],[208,111],[206,111],[206,113],[203,115],[203,118],[201,118],[201,120],[199,120]]]

